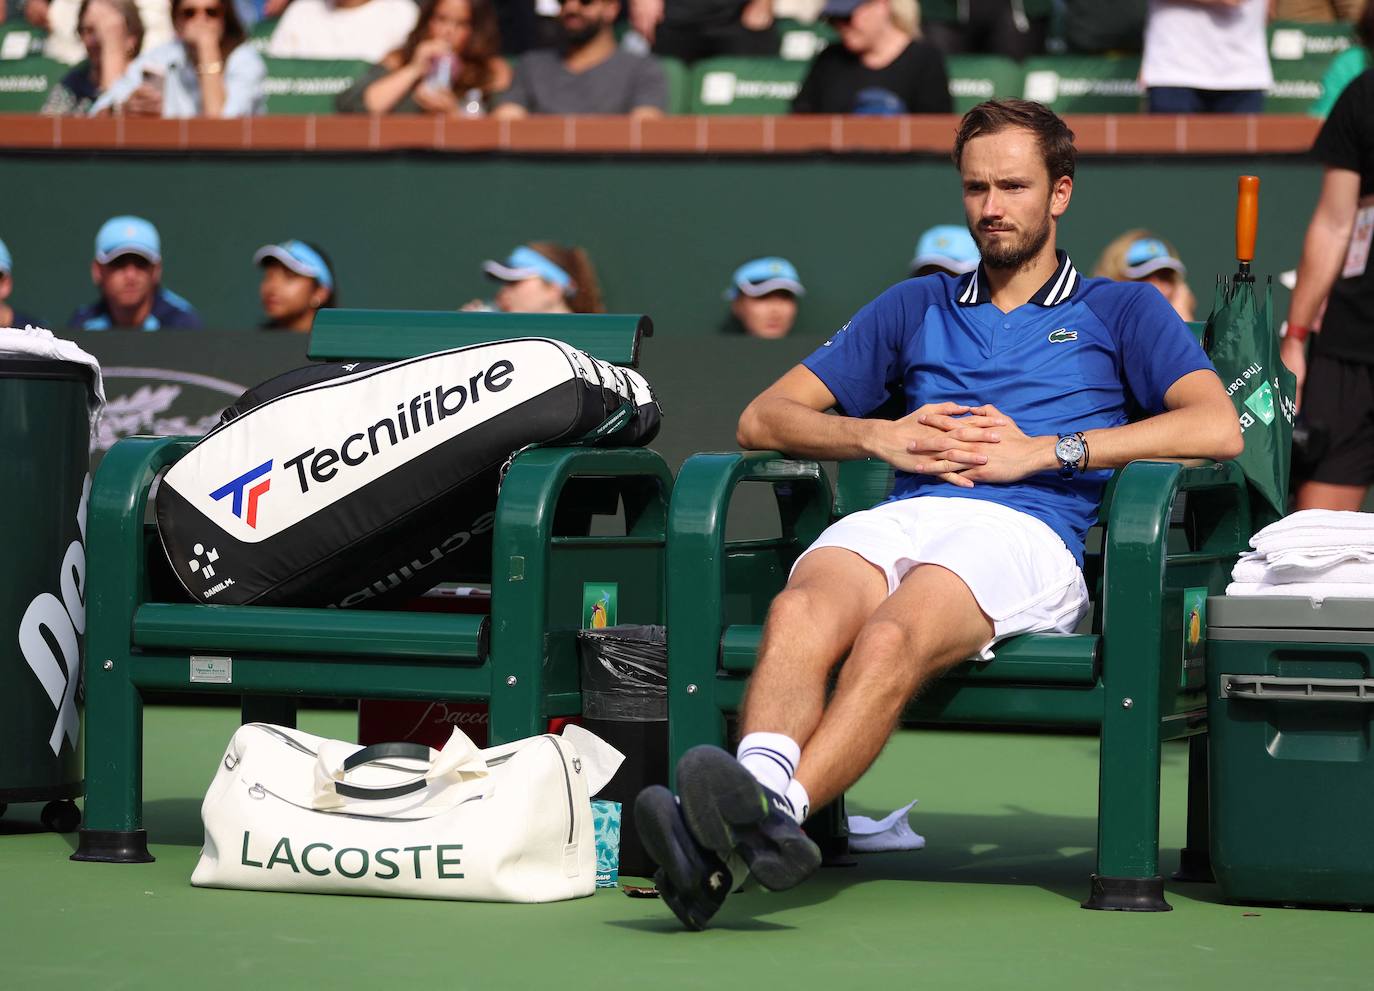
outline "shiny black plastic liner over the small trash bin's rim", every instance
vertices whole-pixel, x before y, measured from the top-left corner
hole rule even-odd
[[[577,631],[583,715],[613,722],[668,719],[668,631],[621,624]]]

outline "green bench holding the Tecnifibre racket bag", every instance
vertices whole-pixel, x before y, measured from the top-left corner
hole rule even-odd
[[[400,359],[513,337],[555,337],[635,364],[638,316],[322,311],[309,355]],[[478,700],[492,745],[581,712],[583,583],[620,586],[620,620],[661,623],[672,473],[647,448],[544,447],[517,456],[496,498],[486,616],[191,603],[174,587],[150,487],[195,437],[132,437],[106,454],[88,509],[85,822],[74,860],[153,858],[143,829],[143,701],[240,695],[243,720],[294,724],[304,697]],[[605,535],[606,515],[624,532]],[[594,520],[598,525],[594,526]]]

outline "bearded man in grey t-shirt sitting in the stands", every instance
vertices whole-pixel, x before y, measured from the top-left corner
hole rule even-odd
[[[618,14],[617,0],[563,0],[558,14],[561,49],[521,56],[515,81],[495,115],[662,115],[668,109],[664,70],[654,59],[631,55],[616,44]]]

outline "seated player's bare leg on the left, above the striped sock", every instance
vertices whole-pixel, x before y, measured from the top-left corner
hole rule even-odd
[[[882,570],[853,551],[820,547],[802,558],[768,609],[741,733],[805,744],[820,723],[831,668],[886,597]]]

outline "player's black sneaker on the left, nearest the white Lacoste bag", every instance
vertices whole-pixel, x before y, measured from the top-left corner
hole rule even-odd
[[[635,829],[658,865],[658,895],[684,926],[705,929],[735,884],[724,860],[691,838],[677,800],[662,785],[650,785],[635,799]]]

